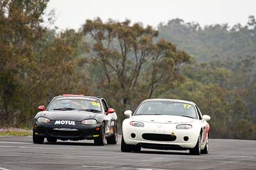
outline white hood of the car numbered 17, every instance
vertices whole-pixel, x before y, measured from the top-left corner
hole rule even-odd
[[[190,123],[195,121],[193,118],[189,117],[180,117],[172,115],[137,115],[133,116],[132,119],[143,121],[143,122],[152,122],[152,123],[169,123],[169,124],[182,124]]]

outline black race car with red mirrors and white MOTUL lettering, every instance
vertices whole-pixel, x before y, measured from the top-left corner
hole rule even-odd
[[[57,139],[93,139],[95,145],[117,143],[117,117],[102,97],[63,94],[56,96],[45,110],[39,106],[33,127],[33,143]]]

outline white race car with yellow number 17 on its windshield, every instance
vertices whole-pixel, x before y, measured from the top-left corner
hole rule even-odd
[[[147,99],[132,115],[124,112],[122,152],[142,148],[189,150],[192,155],[209,152],[208,115],[202,115],[190,101]]]

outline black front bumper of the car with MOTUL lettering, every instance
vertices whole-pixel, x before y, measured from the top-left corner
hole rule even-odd
[[[54,122],[47,124],[35,122],[33,135],[45,138],[56,138],[63,141],[68,139],[76,141],[97,138],[100,129],[101,124],[83,125],[81,122],[76,122],[76,125],[54,125]]]

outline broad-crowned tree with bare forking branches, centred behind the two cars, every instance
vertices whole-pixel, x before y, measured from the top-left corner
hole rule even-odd
[[[115,104],[122,109],[134,108],[136,99],[158,96],[177,86],[182,81],[180,66],[190,59],[164,39],[154,43],[158,32],[152,27],[131,25],[129,20],[86,20],[83,33],[93,42],[89,59],[95,66],[100,64],[104,73],[98,81],[100,89],[115,96]],[[123,114],[118,116],[122,120]]]

